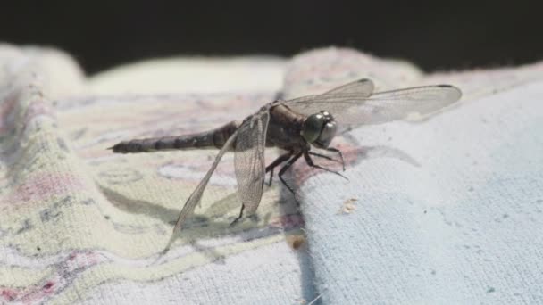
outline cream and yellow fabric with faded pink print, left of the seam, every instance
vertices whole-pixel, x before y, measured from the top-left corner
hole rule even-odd
[[[306,251],[288,243],[300,234],[301,218],[295,206],[280,204],[278,185],[264,195],[258,223],[229,228],[240,207],[232,156],[225,157],[202,207],[174,249],[157,261],[215,152],[106,150],[122,139],[192,132],[258,109],[280,89],[280,61],[195,60],[235,72],[219,84],[214,77],[200,80],[206,94],[168,94],[175,90],[160,80],[142,82],[146,65],[129,69],[136,86],[121,95],[126,79],[117,71],[110,82],[104,75],[87,80],[70,57],[53,50],[3,45],[0,58],[0,303],[284,303],[314,297]],[[259,67],[272,74],[247,87]],[[196,82],[195,69],[155,71],[161,74],[177,77],[180,87]],[[113,89],[112,83],[119,85]],[[235,91],[221,93],[225,84]],[[217,92],[209,93],[213,87]]]

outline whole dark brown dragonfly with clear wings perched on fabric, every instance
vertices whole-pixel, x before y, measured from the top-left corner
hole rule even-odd
[[[338,131],[403,120],[413,114],[424,116],[455,103],[462,95],[459,88],[451,85],[409,87],[383,92],[373,92],[373,89],[372,80],[363,78],[321,95],[267,103],[245,120],[231,121],[213,130],[192,135],[123,141],[110,149],[119,153],[220,149],[211,168],[180,211],[174,233],[181,229],[186,218],[196,209],[222,156],[233,151],[241,200],[241,210],[234,224],[243,218],[244,210],[247,214],[255,213],[263,196],[266,174],[270,173],[269,185],[272,185],[273,170],[279,166],[282,166],[278,175],[280,181],[292,194],[295,194],[295,190],[288,185],[283,175],[302,157],[312,168],[342,176],[338,171],[313,161],[313,157],[338,161],[328,155],[336,153],[340,160],[338,162],[341,162],[345,170],[343,154],[330,146]],[[284,151],[267,166],[264,160],[266,147],[278,147]]]

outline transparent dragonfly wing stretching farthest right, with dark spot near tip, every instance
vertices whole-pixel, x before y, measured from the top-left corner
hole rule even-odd
[[[358,94],[309,95],[283,102],[294,111],[311,115],[329,111],[342,126],[380,124],[425,115],[455,103],[460,89],[449,85],[411,87],[361,96]]]

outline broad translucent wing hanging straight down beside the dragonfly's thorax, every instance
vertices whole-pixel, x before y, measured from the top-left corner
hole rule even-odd
[[[262,199],[265,175],[264,148],[270,114],[259,112],[238,129],[234,167],[238,194],[247,213],[254,213]]]

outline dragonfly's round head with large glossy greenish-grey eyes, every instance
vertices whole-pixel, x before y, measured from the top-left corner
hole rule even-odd
[[[317,148],[327,148],[332,142],[338,127],[328,111],[321,111],[307,117],[302,126],[305,141]]]

